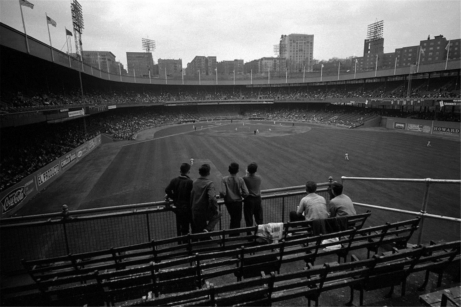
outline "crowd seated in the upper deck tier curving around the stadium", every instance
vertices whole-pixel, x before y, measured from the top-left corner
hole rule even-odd
[[[355,83],[330,86],[303,87],[171,87],[157,91],[89,91],[81,97],[79,91],[69,93],[8,93],[1,92],[0,111],[18,112],[53,107],[83,106],[91,104],[163,104],[168,101],[221,101],[274,99],[326,100],[330,98],[460,98],[459,84],[453,79],[414,80],[412,90],[402,81]]]

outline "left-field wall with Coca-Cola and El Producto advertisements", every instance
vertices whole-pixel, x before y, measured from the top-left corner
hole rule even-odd
[[[90,151],[101,144],[101,135],[85,142],[76,149],[59,157],[38,171],[30,174],[16,185],[0,194],[0,218],[9,217],[22,208],[32,197],[50,185],[62,173],[80,161]]]

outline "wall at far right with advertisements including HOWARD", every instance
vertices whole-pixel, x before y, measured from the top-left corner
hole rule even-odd
[[[460,125],[459,122],[440,122],[383,116],[380,126],[388,129],[407,130],[432,135],[448,135],[459,138]]]

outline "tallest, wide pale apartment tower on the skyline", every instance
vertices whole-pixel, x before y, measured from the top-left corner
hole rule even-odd
[[[314,35],[282,35],[279,47],[280,58],[285,59],[289,71],[312,71]]]

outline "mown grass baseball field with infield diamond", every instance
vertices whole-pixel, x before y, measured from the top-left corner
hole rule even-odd
[[[349,161],[344,159],[346,152]],[[200,165],[208,163],[217,189],[231,162],[240,164],[240,176],[248,163],[257,162],[262,189],[303,185],[307,180],[326,182],[329,176],[337,181],[341,176],[460,179],[461,173],[459,140],[298,122],[294,126],[269,121],[190,123],[144,130],[136,141],[101,145],[17,215],[57,212],[64,203],[76,210],[160,201],[169,180],[179,175],[179,165],[190,158],[194,159],[190,177],[196,179]],[[366,181],[343,184],[344,194],[354,202],[414,211],[421,208],[425,187]],[[460,199],[460,185],[431,185],[427,211],[460,217]],[[384,210],[372,212],[371,225],[410,218]],[[434,239],[460,238],[459,223],[426,220],[425,229]]]

